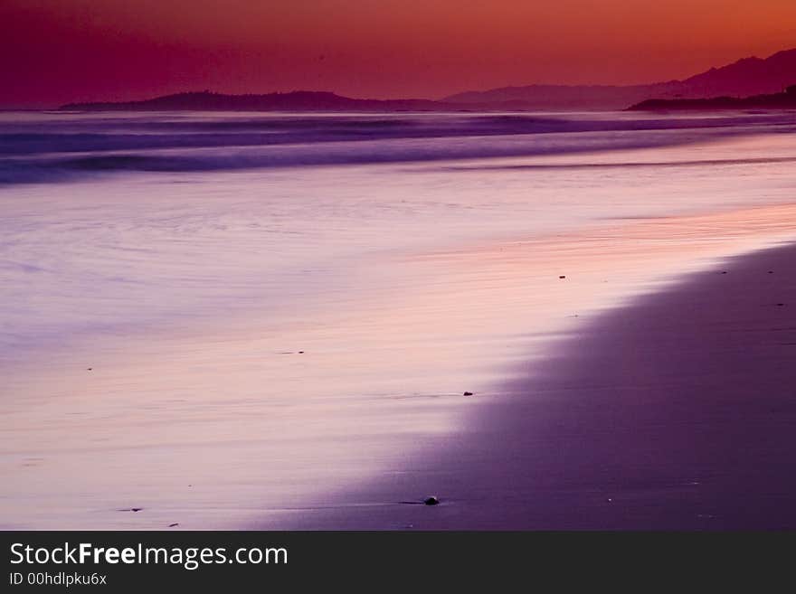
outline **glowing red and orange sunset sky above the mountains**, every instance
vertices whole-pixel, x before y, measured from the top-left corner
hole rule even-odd
[[[0,107],[180,90],[441,98],[796,47],[793,0],[0,0]]]

